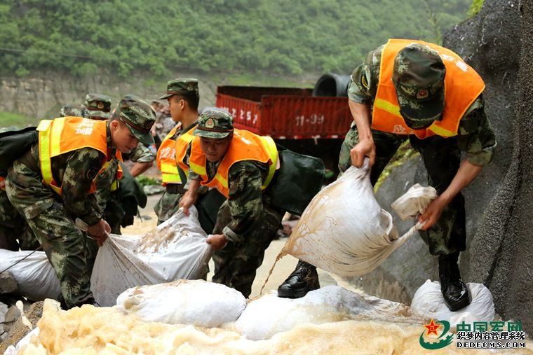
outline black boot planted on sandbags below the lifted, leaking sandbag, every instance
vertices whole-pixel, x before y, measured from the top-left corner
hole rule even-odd
[[[278,297],[300,298],[320,287],[316,267],[299,260],[295,271],[278,287]]]

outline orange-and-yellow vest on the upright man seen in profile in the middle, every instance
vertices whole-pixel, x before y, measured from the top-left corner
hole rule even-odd
[[[157,151],[157,166],[159,170],[161,170],[161,180],[163,181],[161,185],[163,186],[166,186],[167,183],[182,183],[180,173],[177,171],[176,145],[182,144],[187,147],[194,138],[192,132],[196,126],[192,127],[187,132],[180,134],[180,137],[177,137],[177,139],[172,139],[180,127],[181,124],[176,125],[176,127],[167,134]],[[185,174],[187,174],[189,169],[185,169],[184,171]]]

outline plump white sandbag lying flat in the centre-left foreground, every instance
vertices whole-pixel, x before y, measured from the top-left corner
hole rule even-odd
[[[143,321],[212,328],[236,321],[246,307],[246,299],[222,284],[178,280],[130,288],[119,295],[116,305]]]

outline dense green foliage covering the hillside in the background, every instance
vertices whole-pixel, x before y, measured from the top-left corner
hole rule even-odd
[[[439,42],[471,0],[4,0],[0,71],[349,72],[390,37]]]

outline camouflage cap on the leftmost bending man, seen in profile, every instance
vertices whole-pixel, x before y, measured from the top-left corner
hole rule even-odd
[[[142,143],[154,144],[150,129],[156,122],[156,113],[151,106],[135,95],[126,95],[121,99],[113,113],[130,129],[133,135]]]

